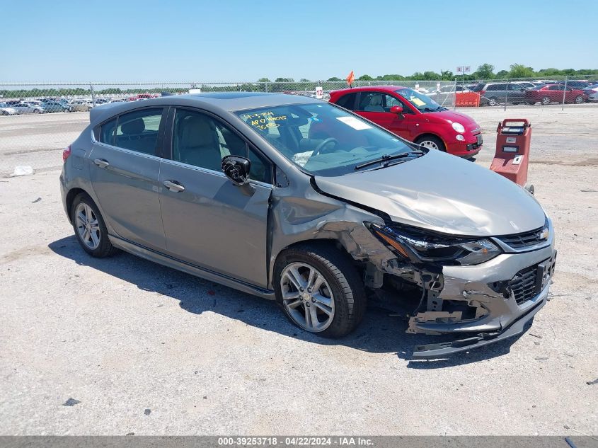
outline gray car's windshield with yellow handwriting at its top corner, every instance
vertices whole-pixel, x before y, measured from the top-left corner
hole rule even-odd
[[[241,110],[236,115],[284,157],[318,176],[342,176],[368,161],[413,151],[396,135],[328,103]]]

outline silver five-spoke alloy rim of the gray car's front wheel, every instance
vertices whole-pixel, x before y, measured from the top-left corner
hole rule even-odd
[[[280,277],[282,304],[294,323],[312,333],[326,330],[334,318],[334,297],[321,272],[307,263],[291,263]]]

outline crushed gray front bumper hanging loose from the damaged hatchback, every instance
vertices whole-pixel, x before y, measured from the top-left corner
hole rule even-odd
[[[445,266],[442,285],[428,291],[427,308],[410,319],[408,333],[464,338],[417,346],[413,359],[446,357],[522,333],[546,304],[555,265],[551,232],[548,246],[534,251],[504,253],[476,266]]]

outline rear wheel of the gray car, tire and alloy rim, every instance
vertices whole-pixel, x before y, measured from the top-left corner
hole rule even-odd
[[[71,207],[71,222],[77,241],[92,257],[104,258],[118,252],[108,239],[108,229],[98,206],[86,193],[75,197]]]

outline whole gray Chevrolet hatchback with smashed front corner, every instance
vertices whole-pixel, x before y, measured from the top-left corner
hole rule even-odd
[[[103,105],[90,121],[60,183],[92,256],[121,249],[275,299],[333,338],[376,289],[415,288],[408,333],[453,335],[415,358],[522,333],[546,302],[556,251],[534,197],[336,105],[203,93]]]

